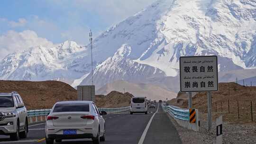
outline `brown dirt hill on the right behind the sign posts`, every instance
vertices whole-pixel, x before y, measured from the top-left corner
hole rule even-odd
[[[182,108],[188,107],[185,93],[178,94],[170,104]],[[213,120],[220,115],[229,122],[251,122],[251,101],[253,120],[256,121],[256,87],[243,87],[237,83],[219,83],[219,91],[212,92]],[[199,109],[201,118],[207,118],[207,93],[199,92],[192,98],[193,108]],[[238,119],[239,106],[239,119]]]

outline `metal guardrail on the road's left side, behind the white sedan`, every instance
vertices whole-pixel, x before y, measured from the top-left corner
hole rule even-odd
[[[99,108],[100,111],[106,111],[108,114],[116,114],[128,112],[130,107],[124,108]],[[51,109],[38,109],[38,110],[28,110],[28,117],[39,117],[39,116],[47,116],[47,114],[51,111]]]

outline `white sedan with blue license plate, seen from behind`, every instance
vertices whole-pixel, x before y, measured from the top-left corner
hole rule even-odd
[[[57,102],[46,120],[46,144],[63,139],[91,138],[93,144],[105,141],[105,120],[92,101]]]

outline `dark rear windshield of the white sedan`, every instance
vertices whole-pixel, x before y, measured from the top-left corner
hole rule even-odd
[[[89,104],[70,103],[70,104],[56,104],[53,112],[76,112],[76,111],[86,112],[89,110],[90,110]]]

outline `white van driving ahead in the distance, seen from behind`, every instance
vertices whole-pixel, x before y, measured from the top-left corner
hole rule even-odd
[[[145,113],[147,114],[146,97],[131,98],[130,114]]]

